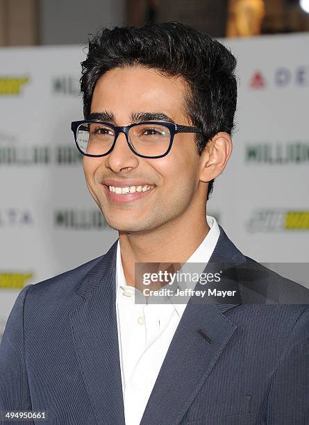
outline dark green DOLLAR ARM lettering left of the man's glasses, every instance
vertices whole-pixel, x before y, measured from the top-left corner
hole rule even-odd
[[[0,165],[81,164],[83,155],[72,146],[0,146]]]

